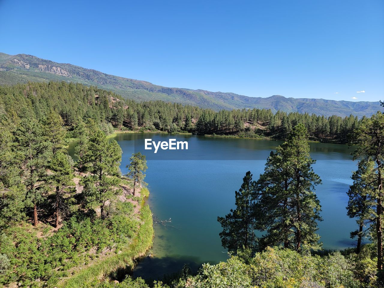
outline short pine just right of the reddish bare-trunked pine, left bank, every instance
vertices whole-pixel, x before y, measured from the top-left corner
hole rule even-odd
[[[71,204],[71,200],[76,193],[73,188],[74,173],[69,159],[69,155],[63,152],[57,152],[50,161],[51,175],[49,182],[54,190],[53,207],[55,208],[55,227],[59,226],[61,214],[65,214]]]

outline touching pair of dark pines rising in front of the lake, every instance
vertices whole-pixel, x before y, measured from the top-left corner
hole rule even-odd
[[[283,245],[300,250],[303,244],[318,248],[316,234],[320,204],[314,186],[321,180],[313,172],[307,131],[296,125],[288,141],[271,152],[265,172],[257,182],[247,172],[235,192],[236,209],[225,218],[218,217],[223,232],[222,245],[232,252]],[[266,232],[258,239],[255,230]]]

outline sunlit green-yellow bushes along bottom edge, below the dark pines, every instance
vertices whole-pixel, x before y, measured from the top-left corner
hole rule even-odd
[[[289,249],[267,248],[246,264],[231,257],[217,265],[204,264],[196,276],[180,281],[177,287],[362,287],[339,252],[326,257],[300,254]]]

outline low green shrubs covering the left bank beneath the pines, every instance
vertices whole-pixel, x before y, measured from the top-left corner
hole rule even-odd
[[[66,270],[88,263],[102,251],[125,247],[136,235],[138,223],[122,212],[126,210],[105,220],[71,217],[43,238],[28,225],[8,228],[0,239],[0,254],[6,255],[15,273],[9,271],[0,283],[21,281],[23,287],[39,287],[36,279],[55,283]]]

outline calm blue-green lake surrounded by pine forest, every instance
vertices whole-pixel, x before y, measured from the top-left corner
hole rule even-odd
[[[159,150],[155,155],[153,151],[144,150],[146,138],[188,141],[189,149]],[[245,173],[250,170],[257,180],[270,151],[282,143],[141,133],[122,133],[111,139],[116,139],[123,151],[123,174],[127,172],[125,167],[133,152],[147,155],[148,203],[154,217],[172,220],[166,226],[154,224],[153,257],[144,258],[134,269],[134,276],[155,279],[179,271],[184,263],[195,270],[202,263],[227,259],[218,235],[222,228],[217,216],[225,216],[234,208],[235,190],[240,188]],[[318,230],[323,247],[351,247],[354,242],[349,233],[357,226],[355,220],[346,215],[345,207],[348,203],[346,192],[352,184],[351,174],[357,169],[357,162],[352,161],[353,150],[346,145],[327,143],[310,143],[310,147],[311,157],[316,159],[314,172],[322,180],[316,187],[316,194],[324,219]]]

